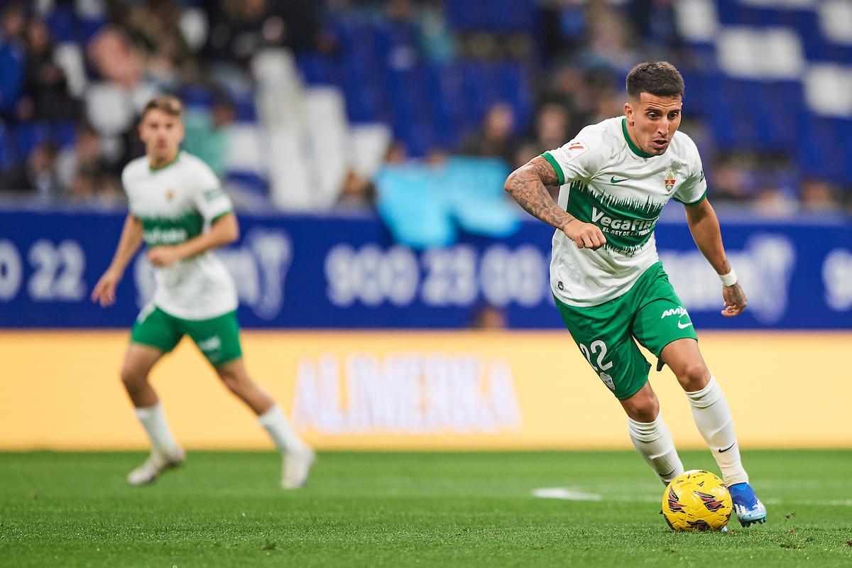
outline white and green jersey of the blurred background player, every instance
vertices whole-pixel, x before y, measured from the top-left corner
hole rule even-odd
[[[210,167],[187,152],[158,169],[147,157],[136,158],[121,181],[149,247],[196,237],[233,209]],[[176,318],[209,319],[237,308],[233,279],[211,250],[155,268],[155,277],[154,305]]]

